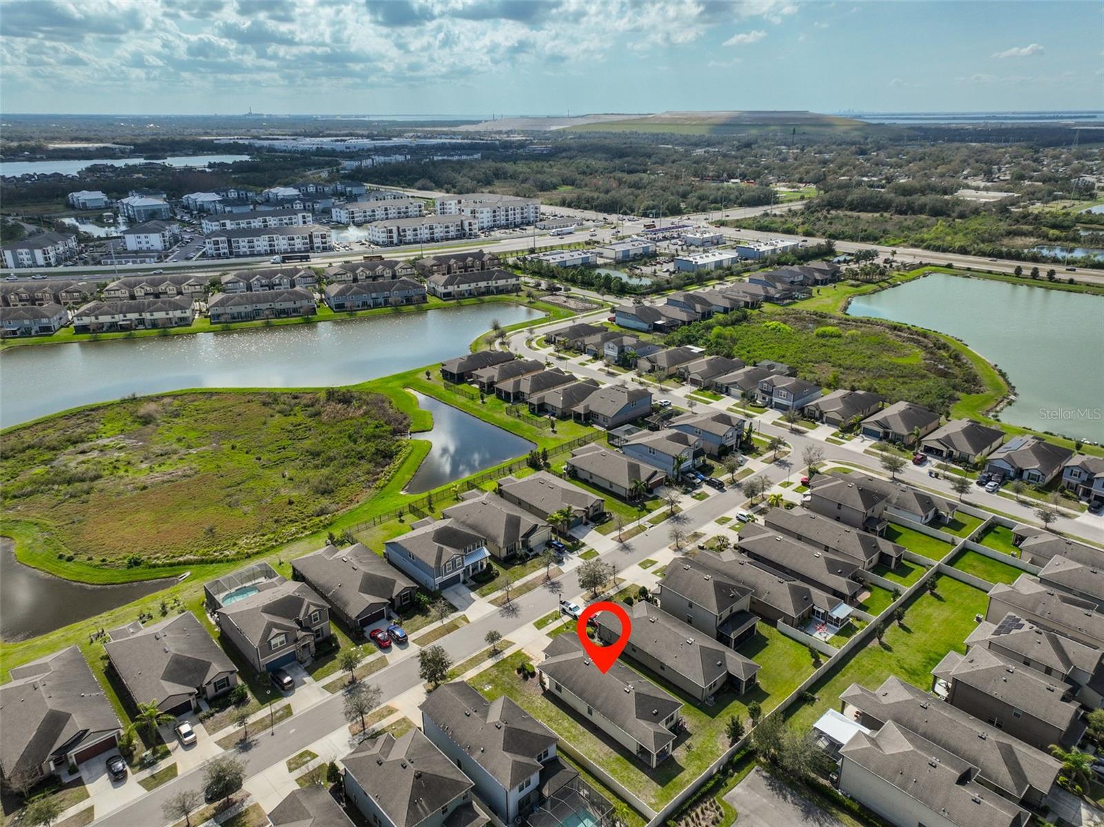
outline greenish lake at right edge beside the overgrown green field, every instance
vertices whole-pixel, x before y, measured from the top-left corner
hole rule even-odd
[[[1004,422],[1104,442],[1104,296],[936,273],[857,296],[847,312],[962,339],[1016,386]]]

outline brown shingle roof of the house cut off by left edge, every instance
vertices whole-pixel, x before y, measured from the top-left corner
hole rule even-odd
[[[0,686],[0,770],[38,775],[52,755],[75,751],[120,729],[103,687],[76,646],[11,670]]]

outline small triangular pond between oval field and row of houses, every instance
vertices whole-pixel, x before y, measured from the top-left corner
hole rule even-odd
[[[410,494],[424,494],[454,479],[478,474],[507,459],[523,456],[537,446],[509,431],[490,425],[458,407],[413,392],[421,407],[433,414],[433,430],[414,434],[433,447],[406,485]]]

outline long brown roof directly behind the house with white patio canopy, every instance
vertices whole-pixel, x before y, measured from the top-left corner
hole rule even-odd
[[[1029,788],[1050,791],[1062,764],[1042,750],[974,718],[891,675],[877,690],[852,683],[840,700],[866,715],[891,721],[978,767],[978,777],[1017,799]]]

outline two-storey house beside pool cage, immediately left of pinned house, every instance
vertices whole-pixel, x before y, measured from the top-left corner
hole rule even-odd
[[[559,739],[508,697],[488,701],[471,686],[437,687],[422,702],[422,731],[463,773],[501,824],[512,825],[541,801],[541,780]]]

